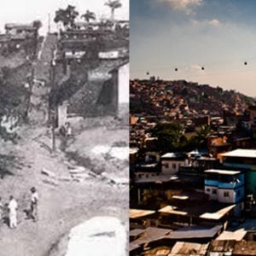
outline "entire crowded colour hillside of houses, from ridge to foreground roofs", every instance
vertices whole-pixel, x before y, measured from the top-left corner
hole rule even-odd
[[[130,90],[131,255],[255,255],[255,100],[154,76]]]

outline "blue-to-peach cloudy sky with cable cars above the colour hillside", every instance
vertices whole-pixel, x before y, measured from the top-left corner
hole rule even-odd
[[[256,1],[131,0],[130,6],[131,79],[186,79],[256,96]]]

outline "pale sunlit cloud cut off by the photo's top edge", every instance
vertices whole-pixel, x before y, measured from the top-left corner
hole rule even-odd
[[[193,8],[200,6],[203,0],[157,0],[160,3],[167,3],[174,10],[183,11],[186,15],[193,13]]]

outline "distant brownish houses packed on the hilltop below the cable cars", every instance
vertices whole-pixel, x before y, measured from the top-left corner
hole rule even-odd
[[[130,85],[132,106],[150,108],[151,113],[166,118],[195,118],[201,114],[219,115],[222,111],[241,114],[246,108],[240,95],[220,92],[208,84],[135,79]],[[144,106],[140,106],[142,102]]]

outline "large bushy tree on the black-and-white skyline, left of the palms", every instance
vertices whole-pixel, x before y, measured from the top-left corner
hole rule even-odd
[[[61,22],[63,26],[68,28],[73,28],[74,20],[79,16],[79,12],[76,11],[75,7],[68,5],[67,9],[58,9],[55,12],[55,23]]]

